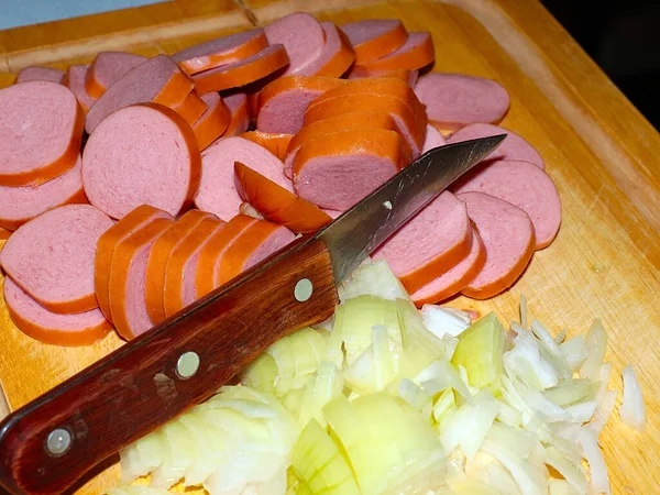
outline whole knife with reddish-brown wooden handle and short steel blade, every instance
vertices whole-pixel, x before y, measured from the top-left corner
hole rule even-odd
[[[210,397],[276,340],[328,319],[337,284],[505,135],[433,148],[314,235],[140,336],[0,424],[0,486],[58,494]]]

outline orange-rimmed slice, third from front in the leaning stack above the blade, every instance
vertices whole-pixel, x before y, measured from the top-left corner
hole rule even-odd
[[[397,123],[399,133],[413,150],[413,157],[419,156],[426,136],[426,118],[413,113],[410,106],[396,97],[367,94],[341,95],[318,105],[310,105],[305,112],[304,123],[307,125],[342,113],[365,111],[389,113]]]

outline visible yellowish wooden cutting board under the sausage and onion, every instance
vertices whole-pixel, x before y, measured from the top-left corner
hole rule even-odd
[[[632,363],[648,415],[644,436],[623,426],[616,413],[605,429],[602,446],[613,492],[657,492],[660,404],[653,378],[660,373],[660,135],[541,4],[529,0],[246,0],[237,8],[220,2],[216,11],[188,12],[177,21],[170,3],[158,4],[165,12],[161,16],[155,13],[158,6],[150,6],[154,10],[140,19],[141,24],[131,19],[140,24],[136,28],[125,29],[129,21],[108,25],[95,19],[90,22],[97,22],[96,32],[84,26],[86,34],[78,35],[66,26],[81,23],[69,21],[59,23],[52,38],[51,25],[32,28],[41,33],[36,44],[30,44],[29,29],[21,29],[20,36],[0,32],[0,50],[6,52],[0,54],[0,67],[13,72],[33,63],[64,67],[72,59],[89,61],[97,51],[110,48],[170,53],[296,10],[339,24],[399,18],[409,31],[430,31],[435,70],[493,78],[509,90],[512,108],[502,124],[540,151],[563,205],[556,242],[535,254],[512,290],[488,301],[461,297],[450,305],[481,314],[495,310],[509,320],[517,318],[524,294],[534,316],[556,332],[584,331],[594,318],[602,318],[609,333],[606,359],[615,370],[610,385],[620,392],[619,372]],[[21,37],[26,40],[23,44]],[[119,345],[114,334],[84,349],[40,344],[13,327],[0,304],[0,380],[9,407],[22,406]],[[111,466],[77,493],[101,493],[117,473],[117,466]]]

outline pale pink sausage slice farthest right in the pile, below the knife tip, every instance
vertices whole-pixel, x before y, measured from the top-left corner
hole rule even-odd
[[[497,161],[477,167],[452,185],[457,194],[485,193],[525,211],[536,234],[536,249],[549,245],[561,224],[561,202],[552,179],[527,162]]]

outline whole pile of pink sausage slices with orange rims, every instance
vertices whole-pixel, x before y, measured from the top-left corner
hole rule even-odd
[[[14,323],[52,344],[112,328],[133,339],[428,150],[499,133],[373,256],[418,305],[505,290],[554,239],[557,189],[535,148],[495,125],[506,90],[432,63],[429,33],[397,20],[338,28],[297,12],[170,56],[23,69],[0,90]]]

